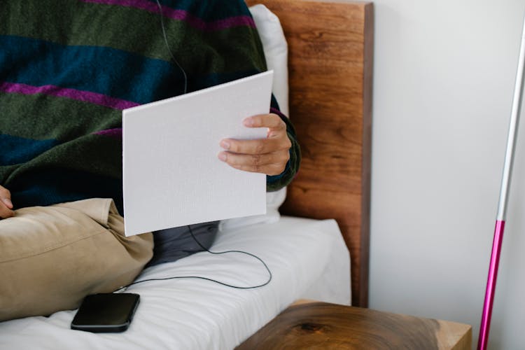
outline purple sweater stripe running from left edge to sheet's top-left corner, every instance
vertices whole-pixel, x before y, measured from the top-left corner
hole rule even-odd
[[[124,99],[116,99],[105,94],[68,89],[66,87],[59,87],[55,85],[33,86],[22,83],[0,82],[0,91],[13,94],[48,94],[50,96],[76,99],[77,101],[89,102],[90,104],[99,104],[100,106],[106,106],[111,109],[119,110],[139,106],[139,104],[136,102],[126,101]]]

